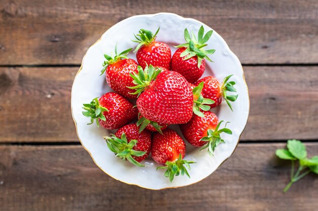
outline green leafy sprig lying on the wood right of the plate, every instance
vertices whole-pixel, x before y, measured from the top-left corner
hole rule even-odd
[[[288,140],[287,149],[277,149],[276,155],[280,159],[292,161],[291,181],[283,189],[287,192],[293,183],[308,175],[310,172],[318,174],[318,156],[307,158],[306,146],[299,140]],[[298,161],[298,169],[295,173],[295,161]]]

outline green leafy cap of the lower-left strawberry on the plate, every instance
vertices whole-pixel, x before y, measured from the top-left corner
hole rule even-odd
[[[137,162],[132,156],[140,157],[146,154],[144,151],[134,150],[133,147],[137,144],[137,140],[133,139],[129,143],[127,141],[125,133],[121,134],[118,138],[114,134],[111,137],[104,137],[107,142],[107,146],[110,151],[114,152],[116,157],[120,157],[122,160],[128,160],[136,166],[144,167],[145,165]]]

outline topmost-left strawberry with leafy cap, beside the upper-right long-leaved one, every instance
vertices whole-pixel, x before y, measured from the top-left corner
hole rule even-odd
[[[159,31],[152,34],[151,31],[140,29],[137,34],[136,43],[139,43],[135,51],[138,64],[145,68],[146,65],[165,67],[170,70],[171,50],[166,43],[155,41],[156,35]]]

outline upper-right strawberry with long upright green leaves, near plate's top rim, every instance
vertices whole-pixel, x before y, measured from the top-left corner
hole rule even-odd
[[[176,46],[179,49],[172,56],[171,70],[181,73],[191,83],[197,81],[205,70],[205,59],[211,61],[207,55],[215,52],[214,49],[206,51],[202,49],[207,46],[206,42],[211,37],[212,32],[212,30],[208,31],[204,35],[204,28],[201,26],[197,39],[193,32],[191,38],[188,30],[184,29],[186,43]]]

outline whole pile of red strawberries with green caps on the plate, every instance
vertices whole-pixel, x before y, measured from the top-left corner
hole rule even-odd
[[[199,79],[206,60],[211,61],[207,55],[215,52],[204,50],[212,30],[204,35],[201,26],[196,37],[185,29],[186,43],[176,46],[172,57],[169,46],[155,40],[158,31],[153,34],[140,29],[135,35],[138,63],[127,57],[132,49],[118,54],[117,45],[115,56],[104,55],[102,74],[106,72],[107,84],[115,92],[83,104],[83,115],[90,117],[89,124],[96,119],[98,126],[118,129],[111,137],[104,137],[117,157],[144,166],[140,161],[151,152],[152,159],[163,165],[158,168],[166,169],[165,176],[172,181],[180,174],[189,176],[187,168],[194,162],[183,159],[185,143],[167,127],[179,124],[187,142],[208,148],[212,155],[218,144],[225,143],[221,133],[232,132],[226,124],[221,128],[223,121],[209,110],[223,100],[233,110],[230,102],[237,95],[228,94],[236,92],[235,82],[229,81],[232,75],[222,84],[213,76]]]

